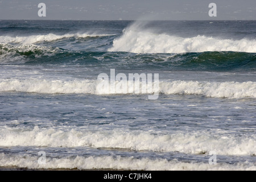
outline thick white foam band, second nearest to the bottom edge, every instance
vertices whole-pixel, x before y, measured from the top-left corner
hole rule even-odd
[[[208,132],[152,135],[147,131],[86,131],[63,129],[33,130],[21,127],[0,129],[0,146],[126,148],[156,152],[202,154],[216,151],[218,155],[255,155],[256,135],[214,135]]]

